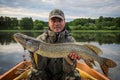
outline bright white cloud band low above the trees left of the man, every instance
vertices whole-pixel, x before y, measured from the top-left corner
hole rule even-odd
[[[0,8],[1,12],[0,14],[3,15],[7,15],[7,16],[18,16],[18,17],[41,17],[41,18],[45,18],[48,14],[44,11],[39,12],[39,11],[35,11],[35,10],[28,10],[26,8],[11,8],[11,7],[5,7],[5,8]],[[14,15],[13,15],[14,14]]]

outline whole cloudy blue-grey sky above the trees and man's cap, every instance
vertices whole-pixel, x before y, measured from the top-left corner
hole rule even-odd
[[[47,21],[49,12],[61,9],[66,21],[76,18],[120,17],[120,0],[0,0],[0,16],[32,17]]]

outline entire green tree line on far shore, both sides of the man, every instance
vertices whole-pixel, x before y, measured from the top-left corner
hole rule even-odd
[[[21,20],[13,17],[0,17],[0,30],[43,30],[48,22],[24,17]],[[103,17],[97,19],[77,18],[67,22],[70,30],[120,30],[120,17]]]

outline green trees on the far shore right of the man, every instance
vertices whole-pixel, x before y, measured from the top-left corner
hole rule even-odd
[[[79,18],[68,23],[71,30],[120,30],[120,17]]]

